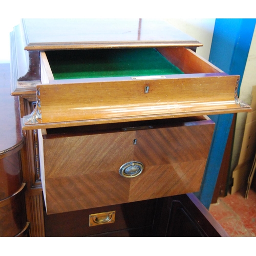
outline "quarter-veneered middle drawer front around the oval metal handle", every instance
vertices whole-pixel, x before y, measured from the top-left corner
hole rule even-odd
[[[200,189],[211,120],[125,131],[42,136],[40,162],[47,214],[191,193]],[[140,175],[120,167],[141,162]]]

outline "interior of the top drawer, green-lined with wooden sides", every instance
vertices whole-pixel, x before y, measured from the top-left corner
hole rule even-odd
[[[46,51],[41,59],[49,80],[222,72],[183,47]]]

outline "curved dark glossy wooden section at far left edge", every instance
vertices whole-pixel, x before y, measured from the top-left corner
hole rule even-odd
[[[18,98],[10,95],[9,69],[9,65],[1,65],[0,237],[23,237],[29,230],[20,157],[25,140],[20,130]]]

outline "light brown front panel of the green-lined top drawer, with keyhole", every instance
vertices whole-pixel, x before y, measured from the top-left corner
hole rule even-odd
[[[234,97],[237,80],[237,76],[224,75],[166,75],[155,80],[41,85],[37,87],[39,121],[56,126],[74,121],[97,124],[225,113],[240,108]]]

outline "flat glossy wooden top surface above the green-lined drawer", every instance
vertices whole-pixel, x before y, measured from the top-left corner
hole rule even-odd
[[[23,19],[25,50],[122,47],[199,47],[202,44],[156,19]]]

